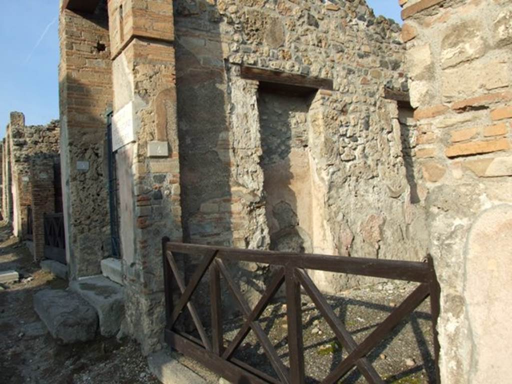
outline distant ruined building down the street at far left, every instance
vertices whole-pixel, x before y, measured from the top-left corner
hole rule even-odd
[[[23,113],[12,112],[2,142],[4,220],[12,224],[14,236],[34,243],[30,248],[37,260],[44,253],[44,214],[56,210],[54,172],[59,169],[59,131],[58,121],[25,125]],[[44,186],[46,182],[51,187]]]

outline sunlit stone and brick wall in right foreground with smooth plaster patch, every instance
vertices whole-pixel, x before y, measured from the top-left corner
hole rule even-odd
[[[441,284],[443,382],[509,381],[512,10],[402,1],[416,172]]]

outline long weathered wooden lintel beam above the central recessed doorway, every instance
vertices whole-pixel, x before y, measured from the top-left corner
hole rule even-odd
[[[241,76],[244,79],[284,84],[286,86],[324,89],[329,91],[332,91],[333,89],[333,83],[331,79],[309,77],[294,73],[271,71],[268,69],[255,67],[241,67]]]

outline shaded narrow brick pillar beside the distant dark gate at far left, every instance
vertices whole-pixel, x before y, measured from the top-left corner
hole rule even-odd
[[[43,259],[45,253],[45,214],[55,211],[55,190],[53,181],[53,158],[36,157],[30,164],[32,197],[32,229],[34,259]]]

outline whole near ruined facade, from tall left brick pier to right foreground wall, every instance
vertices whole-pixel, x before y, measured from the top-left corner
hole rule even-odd
[[[500,311],[479,305],[481,294],[509,300],[509,268],[497,265],[511,226],[510,2],[400,3],[402,30],[364,1],[62,1],[70,276],[99,273],[115,221],[126,328],[145,352],[161,343],[169,237],[411,261],[431,252],[443,379],[492,365],[479,314]],[[498,244],[492,259],[482,239]],[[312,277],[329,293],[364,283]]]

